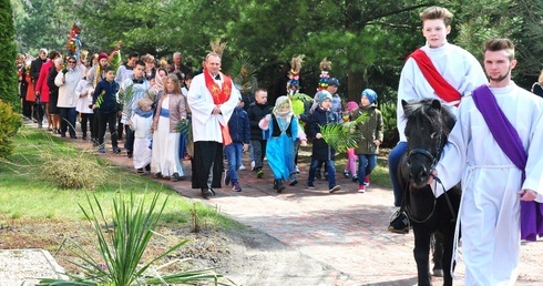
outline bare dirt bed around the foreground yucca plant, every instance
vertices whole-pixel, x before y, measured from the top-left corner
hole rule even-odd
[[[161,263],[191,259],[175,264],[166,268],[166,272],[216,268],[217,273],[224,274],[235,285],[276,285],[285,280],[291,280],[297,285],[319,285],[326,280],[326,285],[334,284],[326,276],[307,277],[307,273],[322,273],[326,266],[249,227],[204,227],[198,233],[193,233],[187,227],[161,227],[158,233],[164,237],[155,236],[144,259],[163,253],[181,239],[188,239],[183,247]],[[78,242],[86,252],[99,257],[94,242],[88,236],[81,222],[21,218],[13,221],[9,226],[2,226],[0,236],[0,248],[47,249],[59,265],[71,274],[79,274],[79,268],[68,262],[75,257],[68,251],[58,252],[66,238]]]

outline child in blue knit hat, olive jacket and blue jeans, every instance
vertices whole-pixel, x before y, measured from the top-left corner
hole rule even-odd
[[[355,149],[355,154],[358,156],[359,193],[365,193],[366,186],[369,185],[369,175],[377,165],[377,154],[382,142],[382,116],[376,101],[377,93],[373,90],[363,90],[360,95],[360,106],[350,114],[350,120],[356,120],[363,114],[368,116],[366,121],[357,124],[357,130],[361,134],[357,140],[358,147]]]

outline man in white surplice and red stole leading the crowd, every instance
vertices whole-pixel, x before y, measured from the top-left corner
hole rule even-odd
[[[187,102],[194,140],[192,187],[199,188],[202,196],[208,198],[215,194],[213,187],[221,187],[223,143],[228,144],[228,120],[239,92],[232,79],[219,72],[219,54],[208,53],[204,63],[204,72],[194,76],[191,83]]]

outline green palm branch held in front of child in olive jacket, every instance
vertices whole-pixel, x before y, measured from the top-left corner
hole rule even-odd
[[[337,152],[346,152],[348,149],[358,147],[358,141],[362,133],[358,131],[357,125],[365,122],[368,114],[363,113],[355,121],[349,122],[331,122],[326,125],[320,125],[320,134],[325,142],[335,149]]]

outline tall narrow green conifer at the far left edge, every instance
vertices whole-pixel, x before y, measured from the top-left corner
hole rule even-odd
[[[17,94],[16,29],[10,0],[0,0],[0,100],[20,109]]]

